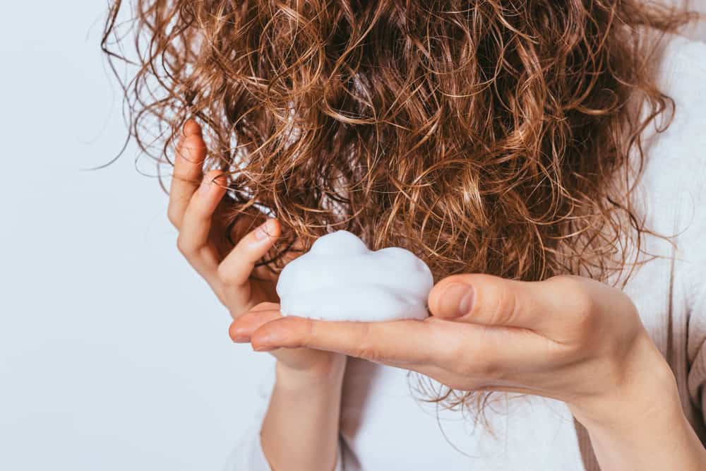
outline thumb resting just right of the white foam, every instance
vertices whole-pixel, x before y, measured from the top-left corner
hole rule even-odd
[[[526,328],[556,338],[567,329],[590,327],[599,304],[616,302],[615,291],[580,276],[522,282],[492,275],[453,275],[433,287],[429,310],[440,318]]]

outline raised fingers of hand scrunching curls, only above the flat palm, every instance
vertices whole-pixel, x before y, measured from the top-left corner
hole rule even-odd
[[[167,214],[179,230],[181,254],[237,318],[261,302],[279,300],[277,275],[266,267],[255,269],[255,264],[279,237],[280,225],[263,214],[239,215],[231,234],[236,245],[232,246],[220,211],[227,181],[220,170],[203,174],[206,153],[201,126],[186,121],[177,145]]]

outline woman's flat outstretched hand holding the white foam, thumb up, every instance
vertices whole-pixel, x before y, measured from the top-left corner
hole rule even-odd
[[[234,321],[231,332],[248,326],[254,350],[328,350],[418,371],[457,390],[556,398],[587,427],[619,427],[667,400],[678,404],[671,369],[637,309],[601,282],[453,275],[433,287],[429,311],[424,321],[376,323],[273,320],[259,311]]]

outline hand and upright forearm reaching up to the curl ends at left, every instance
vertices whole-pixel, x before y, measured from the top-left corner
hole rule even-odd
[[[273,319],[269,313],[278,306],[277,276],[255,263],[273,246],[280,225],[263,215],[240,215],[231,234],[237,243],[231,246],[223,236],[225,177],[217,170],[203,173],[206,152],[200,126],[187,121],[177,145],[167,212],[179,230],[177,247],[232,318],[249,312],[260,320]],[[251,318],[241,326],[254,327]],[[237,330],[231,335],[244,339]],[[272,354],[277,358],[275,387],[261,429],[270,466],[275,471],[333,470],[346,356],[306,347]]]

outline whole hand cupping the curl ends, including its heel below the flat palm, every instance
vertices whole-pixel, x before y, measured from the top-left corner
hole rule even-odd
[[[263,214],[239,215],[230,234],[236,241],[233,247],[220,214],[227,191],[225,175],[220,170],[203,174],[206,153],[201,127],[196,121],[186,121],[169,190],[169,220],[179,230],[179,251],[235,320],[230,328],[232,339],[249,342],[259,326],[281,316],[275,290],[278,275],[264,266],[255,267],[279,237],[280,224]],[[285,261],[296,256],[289,251]],[[340,376],[345,366],[345,355],[321,350],[279,349],[272,354],[278,360],[278,371],[288,376]]]

